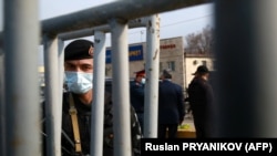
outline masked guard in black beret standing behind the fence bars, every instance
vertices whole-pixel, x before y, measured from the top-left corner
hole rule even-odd
[[[64,49],[66,92],[62,104],[62,155],[88,156],[91,143],[91,104],[93,101],[93,42],[74,40]],[[103,156],[113,156],[113,110],[111,92],[105,91]],[[141,128],[131,107],[132,155],[140,156]]]

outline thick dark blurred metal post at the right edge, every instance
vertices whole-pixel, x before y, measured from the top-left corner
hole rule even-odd
[[[276,4],[273,0],[216,1],[215,136],[277,136]]]

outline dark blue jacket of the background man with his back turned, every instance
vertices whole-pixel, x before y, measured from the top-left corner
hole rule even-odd
[[[168,80],[158,86],[158,124],[179,124],[185,116],[184,94],[181,85]]]

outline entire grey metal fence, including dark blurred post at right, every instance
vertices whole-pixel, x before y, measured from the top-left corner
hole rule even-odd
[[[38,1],[6,0],[4,32],[0,34],[0,102],[1,102],[1,155],[40,155],[40,107],[38,81],[38,45],[43,43],[47,79],[47,100],[53,115],[49,127],[48,143],[52,155],[60,154],[59,117],[62,93],[63,42],[74,38],[94,35],[95,41],[95,89],[103,89],[105,32],[112,33],[113,90],[115,123],[127,122],[123,111],[127,100],[127,25],[144,19],[140,27],[147,29],[146,74],[146,125],[145,136],[156,136],[156,95],[158,58],[158,14],[174,9],[201,4],[204,0],[125,0],[96,8],[57,17],[39,22]],[[277,1],[267,0],[215,0],[215,39],[217,69],[217,128],[216,137],[276,137],[277,112]],[[24,13],[23,13],[24,12]],[[146,18],[145,18],[146,17]],[[79,21],[78,23],[75,21]],[[135,22],[136,21],[136,22]],[[131,23],[130,23],[131,24]],[[41,33],[40,33],[41,32]],[[41,35],[40,35],[41,34]],[[121,38],[117,38],[121,37]],[[115,42],[115,41],[119,42]],[[4,43],[3,43],[4,42]],[[4,64],[4,65],[2,65]],[[2,67],[3,66],[3,67]],[[121,87],[119,90],[119,87]],[[103,93],[95,91],[99,97]],[[99,98],[95,103],[101,103]],[[150,104],[151,103],[151,104]],[[101,104],[94,104],[101,106]],[[101,107],[95,107],[98,110]],[[102,113],[93,114],[101,116]],[[96,123],[101,125],[102,123]],[[101,127],[101,126],[100,126]],[[115,135],[124,141],[122,132],[127,127],[116,127]],[[98,155],[101,133],[93,128],[92,155]],[[119,141],[115,141],[116,143]],[[94,144],[98,142],[98,144]],[[126,142],[127,143],[127,142]],[[117,144],[116,156],[127,156],[130,145]],[[55,147],[55,148],[51,148]]]

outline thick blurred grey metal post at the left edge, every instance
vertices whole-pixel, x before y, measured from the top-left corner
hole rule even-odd
[[[6,147],[9,156],[40,155],[37,6],[37,0],[6,0],[3,7]]]

